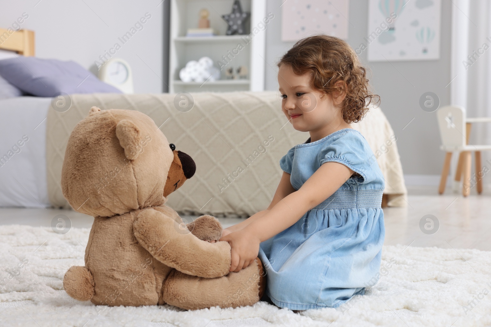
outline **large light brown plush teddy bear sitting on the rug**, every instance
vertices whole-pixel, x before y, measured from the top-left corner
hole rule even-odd
[[[63,278],[67,294],[98,305],[187,310],[258,302],[265,289],[259,258],[230,272],[218,220],[185,224],[165,204],[195,169],[147,115],[92,107],[70,134],[61,171],[63,196],[94,216],[85,266]]]

